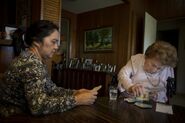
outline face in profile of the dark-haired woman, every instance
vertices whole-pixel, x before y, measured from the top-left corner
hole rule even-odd
[[[59,32],[55,30],[49,36],[43,39],[43,43],[40,44],[39,53],[42,58],[52,58],[53,54],[58,49]]]

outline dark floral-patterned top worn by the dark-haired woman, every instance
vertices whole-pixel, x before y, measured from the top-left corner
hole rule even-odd
[[[3,115],[19,111],[49,114],[75,106],[74,90],[57,87],[46,65],[28,51],[12,62],[3,78],[0,87],[0,113]]]

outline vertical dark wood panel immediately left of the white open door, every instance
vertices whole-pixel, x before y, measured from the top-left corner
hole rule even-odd
[[[131,55],[142,53],[144,36],[145,0],[129,0],[131,4]],[[130,55],[130,56],[131,56]]]

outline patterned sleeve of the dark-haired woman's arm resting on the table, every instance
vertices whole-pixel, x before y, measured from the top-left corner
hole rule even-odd
[[[57,88],[55,84],[50,83],[51,81],[48,82],[47,76],[43,74],[42,65],[33,64],[27,68],[25,76],[25,97],[33,115],[63,112],[75,106],[73,93],[63,88]],[[46,85],[46,83],[50,84]],[[59,92],[61,94],[57,95],[56,93]]]

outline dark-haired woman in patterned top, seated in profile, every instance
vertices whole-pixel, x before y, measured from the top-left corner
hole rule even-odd
[[[27,49],[10,64],[1,82],[1,115],[43,115],[94,103],[101,87],[70,90],[52,82],[46,61],[58,50],[59,35],[58,27],[47,20],[35,22],[27,29]]]

